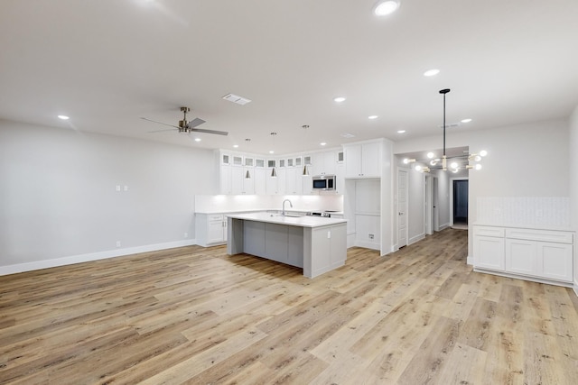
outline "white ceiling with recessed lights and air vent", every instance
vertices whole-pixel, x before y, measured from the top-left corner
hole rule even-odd
[[[2,1],[0,119],[282,154],[441,133],[446,87],[447,122],[473,119],[455,130],[578,105],[578,1],[401,2],[378,18],[374,0]],[[141,116],[177,124],[181,105],[228,137],[147,133],[164,127]]]

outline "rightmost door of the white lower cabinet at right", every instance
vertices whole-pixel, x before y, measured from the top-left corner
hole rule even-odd
[[[572,244],[537,242],[536,249],[541,276],[551,280],[572,282]]]

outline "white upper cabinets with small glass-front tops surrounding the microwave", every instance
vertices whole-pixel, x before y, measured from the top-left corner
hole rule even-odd
[[[338,161],[343,159],[343,151],[312,152],[275,159],[234,151],[219,150],[217,153],[220,194],[319,194],[312,190],[312,175],[322,174],[336,175],[338,188],[332,192],[341,194],[343,191],[344,166],[342,161]]]

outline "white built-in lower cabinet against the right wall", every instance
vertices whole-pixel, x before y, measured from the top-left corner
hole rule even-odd
[[[474,225],[474,268],[573,282],[573,232]]]

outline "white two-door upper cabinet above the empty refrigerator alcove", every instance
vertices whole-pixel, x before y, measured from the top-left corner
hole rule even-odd
[[[379,178],[381,175],[381,145],[379,142],[343,146],[346,178]]]

